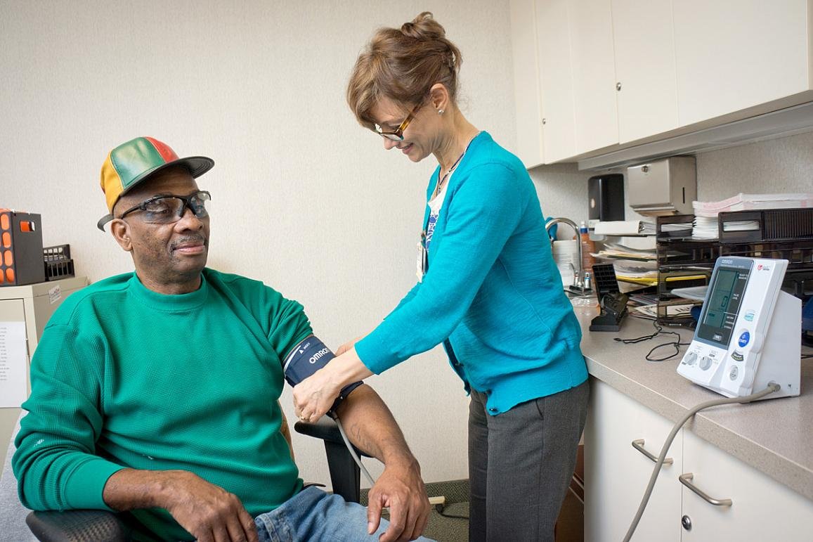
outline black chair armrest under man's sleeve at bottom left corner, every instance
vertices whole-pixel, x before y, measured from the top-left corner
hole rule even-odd
[[[125,542],[128,530],[107,510],[48,510],[25,518],[28,528],[41,542]]]

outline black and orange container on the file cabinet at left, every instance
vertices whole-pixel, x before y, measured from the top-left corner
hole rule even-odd
[[[0,209],[0,286],[45,280],[41,216]]]

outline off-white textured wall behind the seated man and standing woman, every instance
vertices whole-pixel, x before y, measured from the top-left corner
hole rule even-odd
[[[132,269],[95,227],[107,152],[149,135],[211,156],[211,267],[298,299],[334,347],[364,334],[414,281],[434,164],[384,152],[345,85],[376,28],[424,10],[463,51],[469,120],[511,148],[505,1],[0,2],[0,207],[41,213],[46,246],[70,243],[95,281]],[[426,481],[467,477],[467,398],[440,349],[369,382]],[[321,444],[294,444],[302,476],[327,482]]]

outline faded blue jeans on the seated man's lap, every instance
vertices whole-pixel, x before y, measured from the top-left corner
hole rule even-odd
[[[389,525],[382,519],[378,531],[368,535],[365,507],[317,487],[306,487],[279,508],[257,516],[254,523],[259,542],[378,540]],[[417,540],[429,539],[421,536]]]

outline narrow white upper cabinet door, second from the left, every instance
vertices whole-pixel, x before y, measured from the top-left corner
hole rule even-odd
[[[552,164],[576,155],[567,0],[536,0],[542,146]]]

